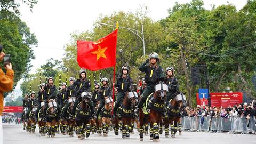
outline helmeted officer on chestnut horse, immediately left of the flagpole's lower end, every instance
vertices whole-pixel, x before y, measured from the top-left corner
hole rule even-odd
[[[108,78],[106,77],[103,77],[101,79],[101,83],[102,83],[102,86],[101,86],[101,94],[100,94],[100,106],[98,108],[98,110],[96,111],[96,116],[98,117],[99,114],[100,114],[100,111],[101,109],[103,108],[104,106],[104,103],[105,103],[105,98],[111,98],[111,89],[108,85]]]

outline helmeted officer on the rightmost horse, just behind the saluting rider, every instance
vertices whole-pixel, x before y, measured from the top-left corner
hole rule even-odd
[[[168,85],[166,102],[169,102],[172,98],[180,93],[178,80],[174,77],[173,67],[166,68],[166,77],[164,78],[164,83]]]

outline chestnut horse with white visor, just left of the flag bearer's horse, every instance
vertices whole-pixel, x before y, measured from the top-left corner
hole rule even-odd
[[[99,125],[102,124],[103,136],[108,136],[108,128],[110,126],[110,118],[112,111],[112,100],[105,98],[104,107],[100,111],[101,119],[99,119]]]

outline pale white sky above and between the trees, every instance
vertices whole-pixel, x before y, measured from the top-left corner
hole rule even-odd
[[[172,8],[178,3],[188,3],[188,0],[162,1],[162,0],[38,0],[30,12],[26,4],[21,4],[19,10],[21,20],[25,21],[31,33],[35,33],[38,40],[38,47],[34,48],[35,59],[31,61],[33,68],[29,72],[35,73],[40,65],[46,63],[47,59],[54,58],[62,60],[63,47],[70,41],[70,34],[74,31],[87,31],[92,29],[92,25],[100,14],[109,15],[114,11],[135,12],[138,8],[145,5],[149,9],[148,16],[157,21],[166,18],[167,9]],[[231,3],[237,10],[242,9],[246,0],[205,0],[204,7],[211,10],[211,5],[227,5]],[[122,23],[119,23],[122,26]],[[17,87],[20,86],[18,83]]]

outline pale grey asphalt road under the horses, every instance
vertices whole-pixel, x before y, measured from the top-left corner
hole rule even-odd
[[[139,133],[135,130],[135,134],[130,135],[130,139],[122,139],[122,135],[119,133],[118,136],[114,132],[109,132],[108,137],[99,136],[97,134],[91,134],[89,138],[85,140],[79,140],[76,135],[74,137],[69,137],[69,135],[56,134],[54,138],[47,138],[46,136],[41,136],[36,130],[35,134],[30,134],[23,131],[22,125],[15,124],[3,124],[4,133],[4,144],[15,143],[15,144],[50,144],[50,143],[84,143],[90,142],[97,144],[117,144],[122,142],[122,144],[129,143],[204,143],[204,144],[220,144],[220,143],[239,143],[239,144],[253,144],[256,143],[256,135],[246,135],[246,134],[228,134],[228,133],[204,133],[204,132],[182,132],[182,135],[177,135],[176,138],[165,138],[164,134],[161,135],[159,142],[153,142],[149,140],[149,136],[144,136],[144,140],[139,140]]]

